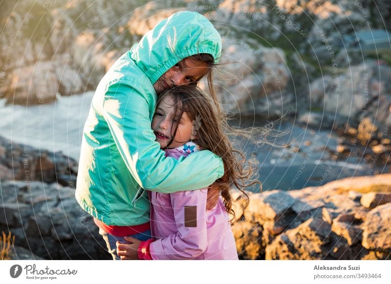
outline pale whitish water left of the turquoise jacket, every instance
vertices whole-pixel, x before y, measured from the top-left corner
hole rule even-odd
[[[38,149],[62,151],[78,161],[93,94],[58,97],[53,103],[29,107],[5,105],[1,100],[1,136]]]

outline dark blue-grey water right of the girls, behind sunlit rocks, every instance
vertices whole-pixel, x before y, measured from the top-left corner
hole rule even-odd
[[[262,123],[255,118],[235,124],[262,126],[266,122]],[[344,138],[331,130],[311,129],[296,123],[294,118],[276,125],[275,128],[289,131],[284,136],[268,140],[274,145],[290,144],[289,146],[261,144],[257,149],[253,144],[247,143],[244,147],[247,156],[253,153],[259,161],[259,177],[263,190],[322,186],[342,178],[387,172],[380,164],[370,170],[369,164],[360,156],[343,157],[337,149]]]

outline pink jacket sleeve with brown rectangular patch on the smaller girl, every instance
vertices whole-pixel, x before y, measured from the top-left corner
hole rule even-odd
[[[150,243],[152,259],[194,259],[206,250],[208,246],[205,220],[207,192],[207,189],[198,189],[170,194],[177,233]]]

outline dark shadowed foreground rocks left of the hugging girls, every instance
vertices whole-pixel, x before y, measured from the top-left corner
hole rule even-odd
[[[110,259],[75,200],[76,175],[77,162],[61,152],[0,137],[0,231],[15,236],[15,259]]]

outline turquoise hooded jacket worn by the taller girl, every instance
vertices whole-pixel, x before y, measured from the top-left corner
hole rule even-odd
[[[182,59],[209,53],[217,62],[221,38],[204,16],[178,12],[159,22],[118,59],[98,84],[84,127],[76,200],[108,225],[149,222],[145,190],[172,193],[214,183],[220,157],[199,151],[186,160],[168,157],[151,122],[160,76]]]

